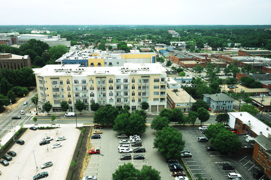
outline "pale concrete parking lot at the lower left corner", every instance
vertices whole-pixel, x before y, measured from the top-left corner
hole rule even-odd
[[[58,131],[58,134],[56,132]],[[9,161],[8,166],[0,165],[2,171],[1,179],[33,179],[37,173],[48,171],[49,176],[46,179],[65,179],[69,169],[72,156],[77,144],[80,130],[74,127],[61,127],[50,130],[30,130],[22,135],[21,139],[25,144],[15,145],[10,149],[17,152],[17,155]],[[53,137],[51,143],[47,145],[39,145],[42,138],[46,136]],[[56,143],[55,138],[65,136],[67,139],[59,141],[62,147],[52,149],[52,145]],[[36,158],[36,159],[35,159]],[[52,161],[53,166],[41,169],[40,166],[45,162]],[[38,169],[36,170],[36,163]]]

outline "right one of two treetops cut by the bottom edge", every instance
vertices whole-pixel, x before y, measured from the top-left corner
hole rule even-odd
[[[150,165],[143,165],[138,180],[160,180],[160,172],[155,168],[152,168]]]

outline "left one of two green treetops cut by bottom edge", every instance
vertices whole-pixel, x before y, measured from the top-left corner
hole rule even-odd
[[[133,164],[124,163],[119,165],[118,169],[112,174],[113,180],[135,180],[135,177],[138,177],[140,171],[134,167]]]

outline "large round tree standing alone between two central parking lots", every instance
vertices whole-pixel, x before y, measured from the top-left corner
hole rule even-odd
[[[176,128],[164,127],[158,130],[153,145],[158,148],[166,158],[179,158],[184,148],[185,141],[182,139],[182,133]]]

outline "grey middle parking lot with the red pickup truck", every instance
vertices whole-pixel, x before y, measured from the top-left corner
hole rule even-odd
[[[156,170],[160,171],[161,179],[172,180],[173,176],[165,162],[165,157],[153,148],[153,139],[155,138],[155,131],[147,126],[146,132],[140,136],[142,139],[141,148],[145,148],[146,152],[130,153],[134,155],[143,154],[144,160],[120,160],[120,156],[126,153],[119,153],[118,146],[121,139],[117,138],[117,133],[112,128],[103,128],[103,134],[100,139],[91,139],[91,143],[95,148],[100,148],[100,154],[93,154],[89,165],[84,173],[86,175],[96,175],[98,179],[111,179],[112,173],[116,171],[119,165],[124,163],[132,163],[135,168],[141,169],[143,165],[151,165]],[[135,149],[137,147],[131,147]]]

